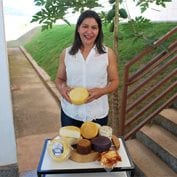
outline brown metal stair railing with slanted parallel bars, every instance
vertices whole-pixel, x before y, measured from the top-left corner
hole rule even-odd
[[[125,65],[119,134],[132,137],[176,99],[177,27]]]

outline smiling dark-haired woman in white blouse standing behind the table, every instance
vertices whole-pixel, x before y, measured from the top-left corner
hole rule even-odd
[[[103,45],[101,19],[96,12],[87,10],[78,18],[72,46],[60,56],[56,86],[62,96],[61,125],[80,127],[84,121],[106,125],[108,94],[117,90],[118,83],[116,56]],[[71,104],[68,94],[75,87],[88,89],[85,104]]]

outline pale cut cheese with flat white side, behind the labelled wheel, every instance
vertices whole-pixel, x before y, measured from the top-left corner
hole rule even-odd
[[[65,126],[61,127],[59,130],[59,135],[61,137],[70,137],[70,138],[80,138],[80,128],[76,126]]]

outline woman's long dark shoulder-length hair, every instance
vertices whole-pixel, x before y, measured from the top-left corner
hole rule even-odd
[[[80,35],[78,33],[78,28],[86,18],[94,18],[96,20],[96,22],[98,24],[99,32],[98,32],[98,36],[95,40],[95,45],[96,45],[98,53],[100,53],[100,54],[105,53],[104,46],[103,46],[103,30],[102,30],[101,19],[95,11],[86,10],[80,15],[80,17],[77,20],[75,35],[74,35],[74,42],[71,47],[71,50],[69,51],[69,53],[71,55],[75,55],[78,52],[78,50],[80,49],[80,47],[82,46],[82,41],[81,41]]]

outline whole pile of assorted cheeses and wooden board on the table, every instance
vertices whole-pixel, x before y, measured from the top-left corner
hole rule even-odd
[[[101,164],[105,165],[105,159],[108,157],[105,152],[109,152],[109,157],[110,154],[115,156],[120,145],[118,138],[112,135],[111,127],[100,126],[89,121],[84,122],[80,128],[76,126],[61,127],[59,137],[58,140],[51,141],[49,148],[50,156],[56,161],[70,158],[76,162],[92,162],[99,158]],[[112,143],[116,147],[114,153],[110,152]],[[120,159],[118,156],[114,158],[114,160],[118,159]]]

